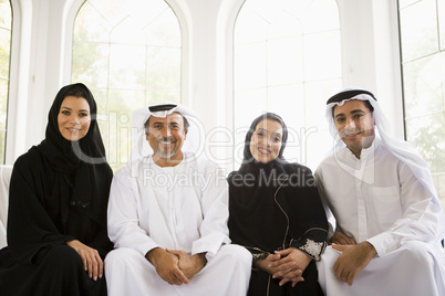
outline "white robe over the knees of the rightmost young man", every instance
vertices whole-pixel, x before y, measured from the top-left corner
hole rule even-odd
[[[337,279],[332,272],[339,252],[332,246],[324,250],[317,262],[319,283],[325,296],[443,296],[444,273],[437,249],[423,242],[408,242],[382,257],[374,257],[360,272],[352,286]]]

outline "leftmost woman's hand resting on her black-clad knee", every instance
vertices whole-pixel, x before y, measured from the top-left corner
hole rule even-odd
[[[81,256],[83,267],[85,268],[85,272],[89,273],[90,278],[93,278],[94,281],[97,281],[97,276],[102,278],[104,264],[97,250],[92,249],[77,240],[66,242],[66,244],[74,249],[74,251]]]

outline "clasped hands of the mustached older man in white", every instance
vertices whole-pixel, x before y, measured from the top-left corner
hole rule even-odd
[[[205,253],[195,255],[184,251],[155,247],[145,257],[155,266],[156,273],[170,285],[188,284],[207,263]]]

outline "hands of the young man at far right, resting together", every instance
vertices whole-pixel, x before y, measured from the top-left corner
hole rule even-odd
[[[335,232],[329,242],[334,250],[342,252],[333,266],[335,277],[350,286],[354,283],[355,276],[377,254],[369,242],[356,244],[354,239],[340,232]]]

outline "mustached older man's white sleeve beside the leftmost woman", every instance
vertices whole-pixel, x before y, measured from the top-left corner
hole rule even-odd
[[[123,167],[113,178],[108,201],[108,236],[114,247],[131,247],[142,255],[157,247],[139,226],[137,214],[137,186],[131,171]]]

